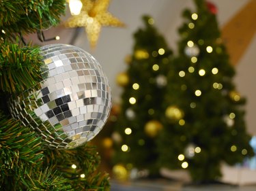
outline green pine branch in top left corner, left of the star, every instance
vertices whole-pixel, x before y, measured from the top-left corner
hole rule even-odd
[[[56,26],[65,13],[65,0],[2,1],[0,5],[0,33],[3,39],[34,33]]]

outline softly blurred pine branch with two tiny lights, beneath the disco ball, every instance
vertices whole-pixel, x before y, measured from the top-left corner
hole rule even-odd
[[[100,156],[96,147],[83,145],[72,150],[45,150],[44,166],[53,165],[74,190],[110,190],[109,175],[98,172]],[[72,164],[76,169],[72,169]],[[85,175],[85,177],[81,177]]]

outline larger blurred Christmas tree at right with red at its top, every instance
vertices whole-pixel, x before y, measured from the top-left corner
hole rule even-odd
[[[253,156],[244,122],[245,99],[232,82],[235,70],[221,41],[216,7],[195,0],[184,11],[178,55],[162,104],[165,128],[158,140],[159,164],[188,169],[194,181],[221,177],[221,164]]]

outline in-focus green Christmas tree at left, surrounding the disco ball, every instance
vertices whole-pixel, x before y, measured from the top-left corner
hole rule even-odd
[[[14,120],[8,98],[40,82],[40,48],[23,35],[56,26],[66,1],[2,1],[0,5],[0,190],[109,190],[109,175],[97,171],[96,147],[50,150],[42,137]],[[41,40],[44,40],[42,38]],[[40,122],[38,122],[40,123]]]

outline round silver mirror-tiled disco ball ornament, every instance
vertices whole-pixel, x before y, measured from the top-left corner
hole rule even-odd
[[[111,88],[98,61],[66,44],[41,48],[42,82],[10,99],[10,111],[49,147],[74,148],[93,139],[111,110]]]

